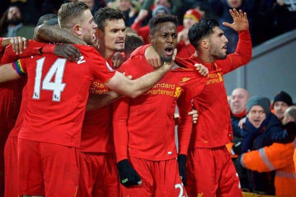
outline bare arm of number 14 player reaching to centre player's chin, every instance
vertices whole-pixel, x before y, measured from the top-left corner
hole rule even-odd
[[[147,92],[163,75],[171,69],[175,60],[177,49],[170,63],[164,63],[160,68],[135,80],[128,79],[124,74],[116,71],[115,75],[105,85],[120,95],[136,98]]]

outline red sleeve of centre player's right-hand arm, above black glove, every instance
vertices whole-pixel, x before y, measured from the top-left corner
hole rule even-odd
[[[179,119],[178,119],[178,154],[187,155],[190,136],[192,131],[192,117],[188,112],[192,111],[192,104],[184,92],[177,100]]]

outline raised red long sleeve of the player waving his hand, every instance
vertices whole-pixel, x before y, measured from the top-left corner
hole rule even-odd
[[[246,65],[252,58],[252,41],[250,32],[241,31],[238,33],[238,43],[234,53],[227,55],[225,60],[218,60],[216,64],[219,65],[223,74],[230,72],[240,66]]]

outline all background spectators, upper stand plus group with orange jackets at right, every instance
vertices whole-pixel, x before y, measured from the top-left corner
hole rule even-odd
[[[7,6],[0,8],[2,15],[0,36],[19,35],[28,39],[33,38],[34,28],[37,26],[40,16],[48,13],[57,14],[61,4],[68,2],[67,0],[6,1],[4,5]],[[122,11],[126,27],[128,27],[127,32],[138,33],[142,36],[144,43],[148,43],[149,28],[147,25],[152,16],[158,13],[172,13],[178,16],[177,49],[179,57],[184,58],[189,57],[195,51],[187,38],[188,30],[202,17],[214,17],[218,20],[221,29],[228,38],[227,53],[235,51],[238,34],[231,28],[224,28],[222,25],[224,21],[231,22],[232,18],[228,11],[231,8],[242,9],[248,13],[253,46],[296,29],[295,0],[81,1],[89,6],[93,15],[100,7],[105,6]],[[293,162],[295,141],[288,143],[281,141],[280,136],[277,136],[278,131],[296,131],[295,124],[290,124],[290,122],[296,121],[296,107],[293,105],[292,98],[287,93],[280,92],[273,99],[273,103],[270,103],[267,98],[251,97],[246,90],[238,88],[232,92],[229,99],[235,139],[227,148],[232,154],[242,188],[279,196],[285,195],[278,192],[281,191],[281,188],[291,187],[292,190],[295,190],[296,169]],[[262,159],[263,156],[260,154],[265,154],[265,159]],[[266,155],[268,156],[266,157]],[[261,163],[265,168],[260,165]],[[293,179],[293,181],[289,181],[289,179]]]

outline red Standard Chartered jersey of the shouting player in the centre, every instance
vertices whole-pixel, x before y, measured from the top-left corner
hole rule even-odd
[[[134,56],[119,71],[135,79],[153,68],[144,56]],[[177,99],[183,95],[190,102],[205,82],[206,78],[195,69],[178,67],[136,99],[115,101],[113,130],[117,162],[127,155],[152,161],[176,158],[174,113]]]

